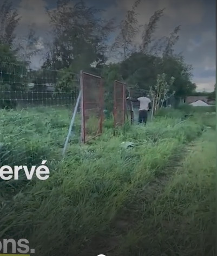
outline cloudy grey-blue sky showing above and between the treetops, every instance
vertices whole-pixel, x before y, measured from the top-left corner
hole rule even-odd
[[[104,17],[124,16],[131,8],[132,0],[87,0],[88,4],[103,8]],[[14,0],[22,16],[17,32],[21,36],[27,33],[28,24],[35,23],[40,36],[38,47],[47,40],[49,20],[45,8],[55,8],[55,0]],[[165,9],[156,36],[168,35],[177,25],[181,25],[180,40],[176,52],[182,52],[187,63],[193,65],[193,82],[198,91],[213,91],[215,84],[215,0],[141,0],[137,10],[140,24],[148,22],[154,11]],[[135,38],[137,42],[140,37]],[[36,56],[32,65],[41,65],[41,57]]]

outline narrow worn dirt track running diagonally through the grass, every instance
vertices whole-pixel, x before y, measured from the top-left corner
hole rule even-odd
[[[150,226],[147,222],[148,220],[146,219],[146,216],[148,216],[148,219],[150,219],[150,217],[155,215],[153,202],[155,202],[157,197],[161,195],[167,188],[171,177],[174,175],[174,172],[176,172],[177,169],[183,168],[185,159],[188,157],[189,153],[194,150],[198,143],[201,143],[200,138],[195,142],[186,145],[170,159],[168,166],[164,170],[160,170],[158,172],[160,175],[157,176],[153,182],[150,182],[142,189],[135,191],[135,193],[131,195],[128,202],[126,202],[124,209],[122,209],[122,211],[116,215],[116,218],[111,223],[107,232],[104,232],[103,235],[96,235],[96,237],[91,240],[87,251],[85,250],[86,253],[82,255],[87,255],[87,252],[88,255],[105,254],[106,256],[179,255],[170,253],[145,254],[142,251],[140,252],[139,247],[142,245],[143,248],[146,248],[152,243],[152,246],[154,246],[154,239],[155,236],[159,235],[159,229],[155,226],[155,230],[152,230],[152,238],[150,238],[149,233],[147,233]],[[171,229],[173,226],[173,221],[166,220],[164,225],[165,228]],[[146,231],[147,226],[149,227]],[[144,240],[142,241],[141,239]],[[152,253],[154,253],[154,251]]]

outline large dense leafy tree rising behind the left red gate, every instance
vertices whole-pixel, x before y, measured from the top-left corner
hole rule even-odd
[[[57,1],[57,8],[48,12],[54,40],[45,66],[60,69],[71,65],[75,71],[88,68],[91,63],[105,62],[113,21],[99,18],[100,12],[83,1],[74,5],[70,0]]]

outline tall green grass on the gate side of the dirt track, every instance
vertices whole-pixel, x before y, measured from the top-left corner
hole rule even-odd
[[[71,141],[62,159],[69,111],[1,111],[0,115],[4,164],[48,160],[47,181],[0,182],[0,237],[27,238],[40,256],[85,251],[97,233],[109,228],[132,194],[165,175],[173,156],[209,129],[207,123],[215,129],[213,115],[197,113],[183,120],[180,114],[156,117],[147,127],[126,124],[113,137],[113,120],[106,120],[101,137],[84,146]],[[134,148],[123,149],[124,141],[134,142]]]

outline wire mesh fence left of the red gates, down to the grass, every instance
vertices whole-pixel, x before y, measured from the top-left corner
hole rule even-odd
[[[62,150],[80,91],[79,75],[0,62],[0,164],[35,165]],[[76,118],[70,142],[79,142]]]

